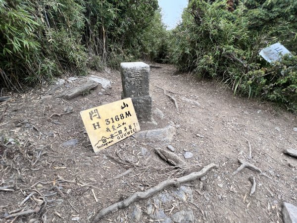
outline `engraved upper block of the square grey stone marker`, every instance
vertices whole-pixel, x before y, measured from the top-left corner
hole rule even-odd
[[[124,97],[149,95],[149,65],[144,62],[121,63]]]

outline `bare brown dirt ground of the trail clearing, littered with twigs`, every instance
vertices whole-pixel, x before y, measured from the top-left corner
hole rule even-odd
[[[170,143],[175,154],[189,166],[196,166],[188,172],[168,168],[154,152],[154,148],[166,149],[168,144],[133,137],[98,154],[93,152],[79,112],[121,99],[119,71],[93,72],[111,80],[112,88],[97,87],[72,100],[46,95],[50,86],[15,94],[12,100],[0,104],[0,188],[11,190],[0,191],[0,223],[92,222],[101,208],[135,191],[198,171],[210,163],[219,168],[184,185],[193,197],[181,199],[175,193],[179,187],[168,187],[161,193],[171,195],[170,202],[157,202],[156,197],[139,200],[100,222],[162,222],[149,216],[150,201],[153,212],[163,210],[169,218],[180,210],[193,210],[195,223],[282,223],[282,202],[297,205],[297,160],[283,153],[284,149],[297,149],[297,132],[293,131],[297,116],[274,105],[233,96],[224,86],[177,73],[171,65],[161,66],[150,71],[150,94],[153,109],[161,110],[165,118],[154,115],[157,125],[140,123],[141,129],[175,126],[176,135]],[[67,83],[56,93],[84,79]],[[177,100],[179,111],[159,87]],[[61,114],[69,106],[73,112]],[[78,144],[63,146],[69,139],[78,139]],[[186,151],[194,156],[185,159]],[[115,156],[125,162],[116,161]],[[259,167],[272,179],[248,168],[233,175],[240,166],[238,158]],[[132,172],[113,179],[131,167]],[[256,181],[252,196],[250,176]],[[20,204],[31,193],[30,199]],[[38,205],[40,211],[35,209]],[[142,210],[139,221],[131,219],[135,205]],[[19,208],[18,212],[35,209],[36,213],[3,218]]]

